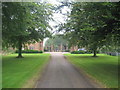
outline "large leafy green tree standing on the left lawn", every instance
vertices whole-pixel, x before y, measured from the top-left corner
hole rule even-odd
[[[17,48],[18,58],[22,47],[50,36],[48,21],[52,15],[51,6],[44,3],[4,2],[3,47]]]

